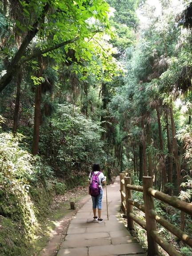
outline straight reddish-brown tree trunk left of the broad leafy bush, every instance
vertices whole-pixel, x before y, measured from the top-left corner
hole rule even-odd
[[[41,84],[36,87],[35,97],[35,115],[34,115],[34,128],[33,128],[33,142],[32,154],[38,154],[39,150],[39,136],[40,136],[40,120],[41,120]]]

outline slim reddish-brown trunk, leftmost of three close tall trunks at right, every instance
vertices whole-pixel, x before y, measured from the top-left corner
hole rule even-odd
[[[159,105],[156,105],[156,114],[157,114],[159,140],[160,140],[160,151],[161,151],[160,157],[162,160],[162,185],[163,185],[164,192],[166,192],[165,184],[167,183],[167,173],[166,173],[166,166],[165,166],[165,157],[163,152],[163,136],[162,136],[161,121],[160,121]]]

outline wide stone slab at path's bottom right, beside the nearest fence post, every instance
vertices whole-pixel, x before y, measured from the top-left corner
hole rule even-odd
[[[143,253],[143,249],[140,244],[117,244],[117,245],[105,245],[95,246],[89,248],[89,256],[108,256],[108,255],[126,255]]]

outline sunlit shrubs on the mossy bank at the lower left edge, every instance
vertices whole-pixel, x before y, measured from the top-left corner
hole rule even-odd
[[[20,145],[22,135],[0,133],[0,255],[26,256],[51,202],[52,169]]]

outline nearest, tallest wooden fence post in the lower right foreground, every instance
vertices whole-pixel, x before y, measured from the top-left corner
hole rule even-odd
[[[155,210],[153,197],[148,194],[148,188],[152,188],[152,177],[143,177],[143,196],[145,206],[145,220],[147,226],[148,256],[157,256],[158,247],[151,236],[151,231],[156,232],[156,220],[150,217],[150,210]]]

